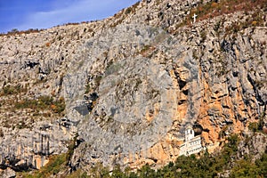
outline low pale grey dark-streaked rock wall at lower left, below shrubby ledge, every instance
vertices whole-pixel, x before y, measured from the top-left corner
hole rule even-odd
[[[1,138],[1,167],[15,171],[44,166],[52,154],[61,154],[68,149],[67,142],[76,130],[66,118],[55,123],[38,122],[32,129],[12,130],[5,128]]]

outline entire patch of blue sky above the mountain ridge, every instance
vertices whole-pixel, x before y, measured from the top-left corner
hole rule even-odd
[[[0,33],[101,20],[139,0],[0,0]]]

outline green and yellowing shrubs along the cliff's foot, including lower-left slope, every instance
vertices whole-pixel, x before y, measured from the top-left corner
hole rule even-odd
[[[215,155],[210,155],[207,152],[202,156],[190,155],[190,157],[181,156],[175,162],[170,162],[168,165],[159,168],[157,171],[152,169],[150,165],[146,164],[137,171],[126,167],[122,170],[120,166],[115,166],[113,171],[109,171],[109,167],[102,166],[101,163],[96,164],[85,173],[81,169],[72,172],[67,177],[93,177],[93,178],[126,178],[126,177],[218,177],[223,174],[225,170],[229,170],[230,177],[264,177],[267,174],[267,154],[255,162],[251,158],[244,157],[237,159],[237,151],[239,145],[239,135],[234,134],[228,138],[221,152]],[[36,171],[34,174],[23,174],[23,177],[44,177],[52,174],[58,174],[60,171],[67,170],[66,163],[68,157],[71,156],[73,146],[69,146],[67,154],[53,156],[48,165]],[[68,156],[69,155],[69,156]],[[112,174],[109,174],[112,173]],[[27,176],[26,176],[27,175]],[[90,175],[90,176],[89,176]]]

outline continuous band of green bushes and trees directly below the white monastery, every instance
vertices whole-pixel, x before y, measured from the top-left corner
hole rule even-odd
[[[112,174],[109,174],[109,168],[96,164],[91,170],[91,177],[217,177],[224,170],[230,170],[231,177],[263,177],[266,175],[267,154],[251,163],[249,158],[239,159],[233,163],[238,150],[239,136],[237,134],[228,138],[228,143],[224,146],[221,153],[212,156],[207,152],[197,158],[195,155],[190,157],[181,156],[175,162],[170,162],[168,165],[158,169],[152,169],[148,164],[142,166],[136,172],[131,172],[130,167],[121,170],[120,166],[115,166]],[[233,166],[232,166],[233,165]],[[79,170],[78,172],[82,172]],[[73,174],[78,174],[73,173]]]

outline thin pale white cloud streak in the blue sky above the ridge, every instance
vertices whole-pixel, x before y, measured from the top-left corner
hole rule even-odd
[[[68,22],[100,20],[113,15],[137,0],[75,0],[58,1],[53,10],[28,14],[19,29],[50,28]]]

